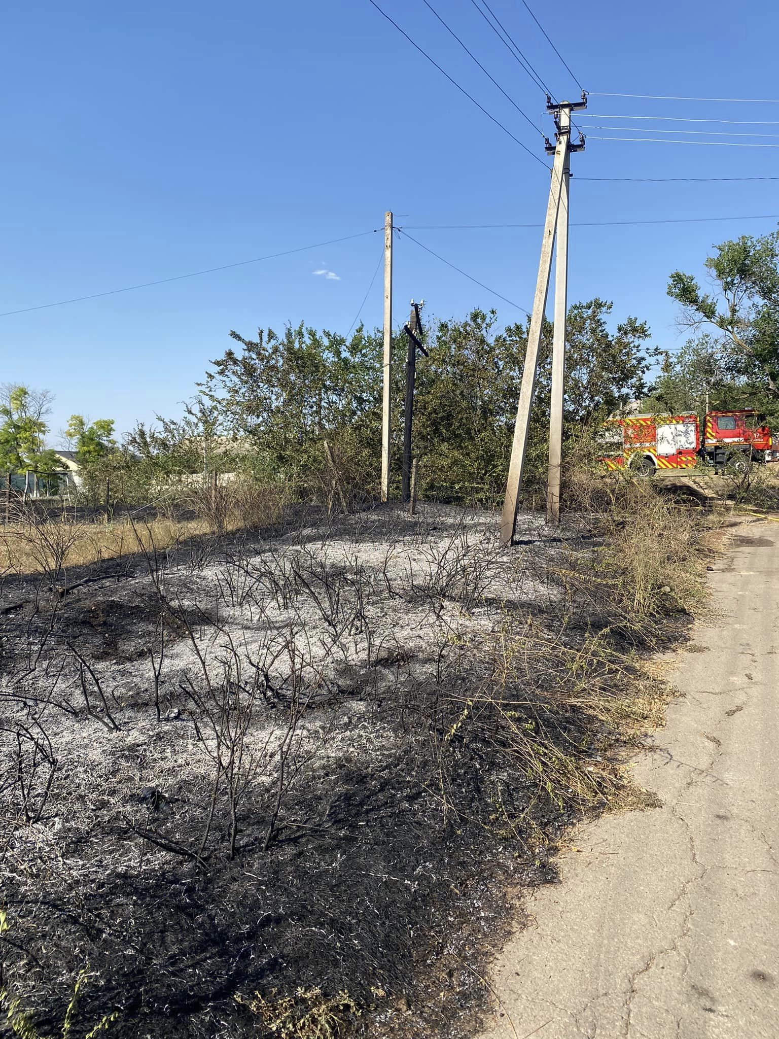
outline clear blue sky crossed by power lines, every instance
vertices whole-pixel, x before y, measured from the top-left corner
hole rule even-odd
[[[380,0],[406,31],[533,152],[519,116],[422,0]],[[540,89],[472,0],[431,0],[532,121],[552,132]],[[558,97],[576,94],[519,0],[489,0]],[[651,4],[561,0],[536,15],[591,91],[775,98],[779,14],[769,0]],[[35,307],[292,249],[396,222],[537,223],[548,178],[462,97],[368,0],[214,4],[35,2],[4,7],[0,311]],[[779,105],[591,97],[589,111],[779,122]],[[606,121],[588,118],[590,123]],[[610,119],[630,126],[634,121]],[[636,125],[642,125],[636,121]],[[649,123],[652,130],[662,123]],[[779,132],[669,122],[668,128]],[[582,177],[776,176],[779,150],[595,140]],[[612,131],[612,136],[635,136]],[[636,135],[637,136],[637,135]],[[677,136],[665,132],[648,136]],[[693,138],[694,139],[694,138]],[[779,143],[772,138],[707,138]],[[779,213],[779,182],[572,183],[571,220]],[[571,300],[613,299],[677,341],[665,294],[675,267],[776,220],[573,228]],[[529,307],[540,232],[411,231],[498,292]],[[379,259],[368,235],[265,263],[0,318],[2,381],[56,394],[119,430],[191,396],[236,328],[286,322],[346,331]],[[411,296],[430,313],[495,304],[412,242],[396,244],[396,319]],[[330,270],[337,278],[317,275]],[[381,276],[364,317],[380,323]]]

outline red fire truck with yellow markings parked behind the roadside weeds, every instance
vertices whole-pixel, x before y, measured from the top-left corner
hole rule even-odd
[[[768,426],[757,412],[708,411],[701,437],[697,415],[630,415],[610,419],[601,438],[609,469],[635,469],[649,475],[656,470],[691,469],[698,463],[743,469],[748,462],[779,457]]]

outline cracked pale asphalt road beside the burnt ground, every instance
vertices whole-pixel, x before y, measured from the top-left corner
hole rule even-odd
[[[494,964],[484,1039],[778,1039],[779,523],[709,575],[717,619],[636,780],[663,807],[583,828]]]

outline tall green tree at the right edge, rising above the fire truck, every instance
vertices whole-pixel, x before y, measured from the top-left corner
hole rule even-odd
[[[779,232],[743,235],[715,249],[705,261],[711,292],[676,270],[668,294],[681,304],[683,323],[717,328],[740,376],[779,401]]]

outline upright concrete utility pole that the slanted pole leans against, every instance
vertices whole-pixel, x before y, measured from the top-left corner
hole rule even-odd
[[[560,134],[570,140],[570,108],[561,108]],[[546,478],[546,523],[560,523],[560,472],[563,460],[563,383],[565,332],[568,314],[568,190],[570,149],[566,149],[555,242],[555,335],[552,346],[552,399],[549,402],[549,468]]]

